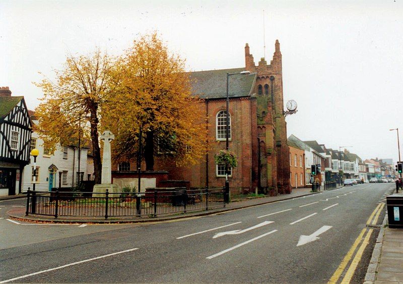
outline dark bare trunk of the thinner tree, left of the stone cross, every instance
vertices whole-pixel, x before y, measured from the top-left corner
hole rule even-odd
[[[94,181],[95,184],[101,183],[101,150],[98,141],[98,117],[97,117],[97,104],[89,106],[90,109],[90,125],[91,125],[91,141],[92,141],[92,155],[94,159]]]

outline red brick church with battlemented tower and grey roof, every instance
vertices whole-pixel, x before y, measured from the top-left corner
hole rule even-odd
[[[193,93],[203,102],[210,151],[191,168],[156,162],[156,170],[167,170],[169,179],[189,180],[190,187],[222,187],[224,166],[214,155],[226,147],[227,73],[229,76],[229,149],[237,155],[238,166],[230,168],[232,193],[255,191],[277,195],[291,193],[287,125],[284,116],[282,55],[276,40],[270,64],[261,58],[255,65],[245,46],[241,68],[191,72]]]

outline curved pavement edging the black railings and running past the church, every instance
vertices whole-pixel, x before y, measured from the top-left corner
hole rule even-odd
[[[231,210],[236,210],[236,209],[242,209],[242,208],[247,208],[247,207],[252,207],[252,206],[257,206],[257,205],[262,205],[262,204],[267,204],[267,203],[273,203],[273,202],[277,202],[277,201],[283,201],[283,200],[293,199],[293,198],[312,195],[312,194],[319,194],[319,193],[320,192],[312,193],[311,188],[293,188],[291,194],[284,194],[284,195],[279,195],[276,197],[254,198],[254,199],[248,199],[248,200],[243,200],[243,201],[239,201],[239,202],[231,202],[231,203],[227,204],[225,208],[210,209],[208,211],[189,212],[189,213],[185,213],[185,214],[182,213],[182,214],[176,214],[176,215],[171,215],[171,216],[161,216],[161,217],[157,216],[156,218],[131,216],[131,217],[113,217],[113,218],[108,218],[107,220],[105,220],[105,219],[102,219],[102,217],[59,216],[56,219],[53,216],[39,216],[39,215],[32,215],[32,214],[25,216],[25,208],[22,208],[22,207],[14,208],[14,209],[10,210],[8,212],[8,214],[10,217],[15,218],[15,219],[28,220],[28,221],[42,221],[42,222],[143,223],[143,222],[166,221],[166,220],[187,218],[187,217],[193,217],[193,216],[210,215],[210,214],[226,212],[226,211],[231,211]],[[19,195],[19,196],[16,196],[16,198],[21,197],[21,196],[26,197],[26,195]],[[3,198],[0,197],[0,200],[2,200],[2,199]],[[10,199],[10,198],[7,198],[7,199]]]

